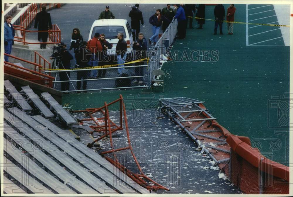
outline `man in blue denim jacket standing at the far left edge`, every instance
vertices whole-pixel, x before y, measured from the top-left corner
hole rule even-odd
[[[14,44],[14,29],[11,24],[12,17],[10,15],[6,16],[6,22],[4,23],[4,48],[5,53],[11,54],[12,45]],[[4,56],[4,61],[8,62],[8,56]]]

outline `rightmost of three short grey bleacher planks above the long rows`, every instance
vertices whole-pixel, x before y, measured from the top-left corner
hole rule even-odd
[[[41,95],[49,103],[50,108],[53,108],[57,113],[57,117],[60,116],[67,125],[76,123],[74,118],[49,93],[43,92]]]

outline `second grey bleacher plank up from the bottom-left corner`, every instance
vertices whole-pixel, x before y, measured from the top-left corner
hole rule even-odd
[[[36,181],[32,176],[30,176],[21,168],[19,168],[16,164],[9,161],[5,156],[4,156],[4,159],[5,159],[5,163],[3,163],[4,172],[6,172],[9,177],[17,180],[21,185],[23,185],[25,188],[30,190],[32,193],[36,193],[36,194],[53,193],[52,191],[47,189],[45,186],[40,184],[38,181]]]

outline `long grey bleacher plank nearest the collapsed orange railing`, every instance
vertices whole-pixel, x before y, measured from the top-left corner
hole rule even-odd
[[[43,118],[42,116],[32,116],[33,119],[35,119],[37,122],[40,124],[44,125],[47,127],[49,130],[51,130],[53,133],[58,135],[60,138],[65,140],[67,143],[69,143],[71,146],[75,147],[76,150],[80,151],[86,157],[91,158],[93,161],[95,161],[98,165],[102,166],[103,168],[107,169],[109,172],[111,172],[113,175],[116,176],[125,183],[127,183],[129,186],[134,188],[135,190],[139,191],[142,194],[149,194],[149,191],[147,189],[143,188],[139,184],[136,184],[133,182],[132,179],[130,179],[128,176],[124,176],[123,174],[121,175],[119,172],[119,169],[114,167],[110,162],[108,162],[105,158],[101,157],[99,154],[93,151],[93,149],[88,148],[87,146],[81,144],[81,143],[76,143],[74,138],[70,135],[64,134],[64,131],[58,127],[56,127],[53,123],[51,123],[49,120]]]

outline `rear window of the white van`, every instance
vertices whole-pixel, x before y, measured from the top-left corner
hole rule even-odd
[[[105,38],[114,38],[117,36],[118,32],[122,32],[124,34],[124,38],[127,38],[125,34],[125,30],[123,26],[96,26],[93,28],[93,32],[91,38],[95,35],[95,33],[104,33]]]

